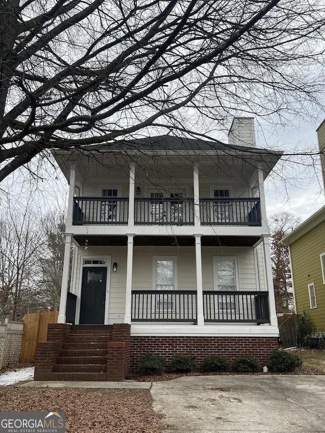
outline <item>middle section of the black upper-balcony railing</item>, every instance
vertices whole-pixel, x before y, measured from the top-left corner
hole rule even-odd
[[[135,224],[193,225],[193,199],[136,198]]]

